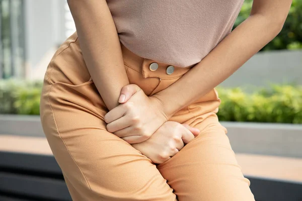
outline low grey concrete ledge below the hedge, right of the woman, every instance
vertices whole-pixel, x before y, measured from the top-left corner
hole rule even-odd
[[[236,153],[302,158],[302,125],[221,122]]]

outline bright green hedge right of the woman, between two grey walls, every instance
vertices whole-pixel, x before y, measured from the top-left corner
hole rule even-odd
[[[220,121],[302,124],[302,86],[271,85],[249,94],[218,87]]]

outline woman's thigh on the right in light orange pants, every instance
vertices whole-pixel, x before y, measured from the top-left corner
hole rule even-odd
[[[201,133],[158,169],[179,201],[254,201],[226,129],[215,115],[194,125]]]

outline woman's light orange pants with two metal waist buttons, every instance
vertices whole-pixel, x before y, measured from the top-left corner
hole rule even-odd
[[[167,74],[169,65],[141,58],[122,46],[130,83],[152,95],[190,68]],[[114,77],[113,77],[114,79]],[[177,98],[177,97],[173,97]],[[170,121],[201,133],[170,160],[156,165],[130,144],[106,130],[108,112],[91,80],[77,34],[52,58],[44,78],[41,122],[73,200],[232,200],[254,196],[238,165],[226,129],[217,119],[220,99],[213,89]]]

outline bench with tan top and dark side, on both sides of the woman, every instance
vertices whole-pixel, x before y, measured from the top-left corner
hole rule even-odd
[[[257,201],[302,200],[302,159],[237,154]],[[0,200],[71,200],[42,137],[0,135]]]

